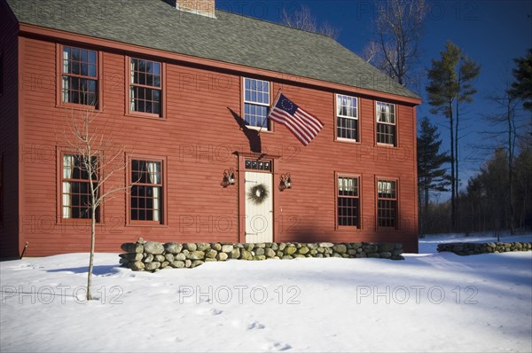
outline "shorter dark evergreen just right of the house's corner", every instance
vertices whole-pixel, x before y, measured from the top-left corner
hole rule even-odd
[[[421,120],[418,137],[418,186],[420,231],[423,233],[427,220],[429,192],[446,192],[449,186],[447,170],[442,168],[450,162],[447,153],[440,152],[442,140],[438,129],[425,117]]]

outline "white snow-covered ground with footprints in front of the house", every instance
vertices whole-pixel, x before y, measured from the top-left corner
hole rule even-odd
[[[532,236],[509,239],[532,241]],[[133,272],[87,254],[0,263],[0,351],[532,350],[532,252],[296,259]]]

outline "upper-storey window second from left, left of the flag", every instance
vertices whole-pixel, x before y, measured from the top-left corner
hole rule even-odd
[[[161,64],[157,61],[130,60],[129,110],[161,116]]]

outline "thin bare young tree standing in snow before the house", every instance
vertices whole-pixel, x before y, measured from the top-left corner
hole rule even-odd
[[[89,195],[82,200],[84,213],[81,217],[90,217],[90,259],[89,274],[87,278],[87,300],[92,299],[90,288],[92,284],[92,271],[94,263],[94,249],[96,244],[96,224],[99,217],[99,208],[106,200],[111,199],[113,193],[126,192],[130,186],[125,184],[107,185],[114,173],[126,168],[124,145],[115,145],[111,135],[105,135],[95,121],[100,112],[94,110],[72,111],[67,116],[64,131],[66,148],[69,150],[71,160],[68,161],[70,169],[79,173],[82,179],[89,184]],[[123,177],[120,180],[124,180]],[[106,185],[104,188],[104,184]]]

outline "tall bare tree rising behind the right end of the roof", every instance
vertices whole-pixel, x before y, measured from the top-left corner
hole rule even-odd
[[[383,0],[376,6],[375,37],[364,48],[363,58],[406,86],[419,57],[425,0]]]

